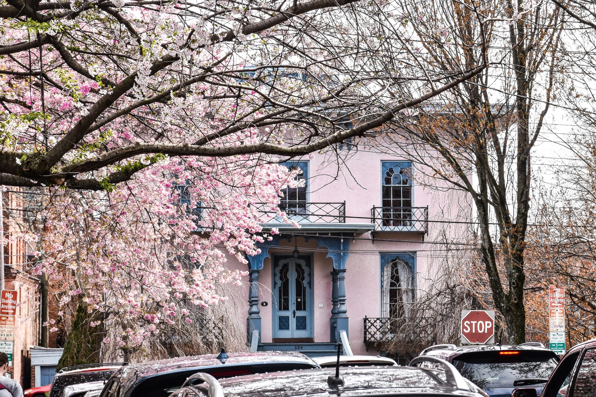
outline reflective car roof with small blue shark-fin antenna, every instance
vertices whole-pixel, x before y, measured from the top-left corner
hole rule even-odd
[[[244,352],[227,353],[225,361],[218,360],[215,354],[199,356],[185,356],[166,358],[164,360],[148,361],[134,364],[132,367],[138,372],[139,377],[149,376],[169,371],[184,370],[194,367],[209,367],[211,365],[254,364],[257,362],[308,362],[315,364],[311,358],[298,352]]]

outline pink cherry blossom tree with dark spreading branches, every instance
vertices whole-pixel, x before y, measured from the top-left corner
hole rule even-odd
[[[268,238],[253,204],[288,221],[280,162],[409,120],[486,67],[420,62],[398,11],[1,0],[0,185],[46,194],[31,271],[122,348],[198,321],[240,283],[226,254]]]

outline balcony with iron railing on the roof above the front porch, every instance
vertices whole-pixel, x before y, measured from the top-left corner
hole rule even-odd
[[[280,210],[285,211],[300,227],[284,223],[277,211],[262,202],[253,204],[264,220],[263,228],[277,227],[285,232],[352,232],[365,233],[374,229],[372,223],[346,223],[346,202],[281,202]]]

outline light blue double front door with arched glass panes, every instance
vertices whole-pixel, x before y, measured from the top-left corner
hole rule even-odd
[[[275,255],[273,267],[273,337],[313,337],[312,266],[309,255]]]

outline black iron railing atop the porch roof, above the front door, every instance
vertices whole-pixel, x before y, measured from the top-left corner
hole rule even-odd
[[[254,204],[262,217],[277,220],[277,212],[265,203]],[[346,223],[346,202],[281,202],[280,210],[297,222]]]

